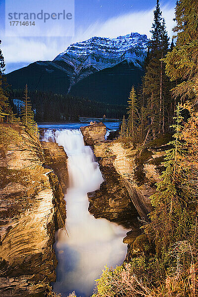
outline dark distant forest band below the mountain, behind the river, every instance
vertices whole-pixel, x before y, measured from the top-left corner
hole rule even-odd
[[[104,114],[106,118],[120,119],[126,113],[125,105],[108,104],[51,92],[29,90],[28,94],[35,111],[36,122],[74,122],[79,120],[79,116],[102,118]],[[10,101],[22,97],[22,90],[9,90]],[[13,106],[13,110],[19,115],[20,104],[16,105]]]

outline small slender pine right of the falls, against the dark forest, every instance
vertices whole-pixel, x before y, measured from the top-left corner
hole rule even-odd
[[[136,98],[136,92],[134,87],[132,87],[129,101],[128,101],[128,121],[127,126],[129,129],[129,134],[135,141],[135,126],[137,123],[138,115],[137,115],[137,98]]]

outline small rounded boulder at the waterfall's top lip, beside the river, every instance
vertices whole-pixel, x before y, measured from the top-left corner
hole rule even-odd
[[[104,141],[106,126],[103,123],[80,127],[80,130],[87,146],[94,146],[95,144]]]

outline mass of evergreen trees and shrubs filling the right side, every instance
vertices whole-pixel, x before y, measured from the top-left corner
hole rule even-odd
[[[148,149],[170,140],[163,162],[165,171],[150,197],[150,222],[142,226],[144,233],[128,246],[130,263],[120,266],[118,276],[117,268],[106,268],[97,282],[96,297],[198,296],[198,113],[185,104],[191,115],[185,123],[184,106],[177,104],[186,99],[198,102],[198,2],[178,0],[176,22],[176,46],[172,43],[167,53],[169,39],[157,0],[143,80],[144,96],[140,96],[144,98],[140,106],[146,102],[148,118],[143,144],[150,140],[150,131],[152,141],[137,158],[135,176],[142,185]],[[173,83],[168,81],[165,70]],[[173,137],[166,134],[169,129],[174,129]]]

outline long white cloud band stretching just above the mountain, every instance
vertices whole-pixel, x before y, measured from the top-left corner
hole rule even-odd
[[[153,8],[154,9],[154,8]],[[134,11],[115,16],[105,22],[96,21],[87,28],[78,27],[74,37],[71,38],[17,38],[4,37],[2,50],[5,62],[27,64],[36,60],[52,60],[58,53],[64,51],[71,43],[87,40],[93,36],[117,37],[131,32],[147,34],[153,20],[153,9],[146,11]],[[163,6],[163,17],[166,20],[167,31],[172,36],[174,26],[174,8]]]

